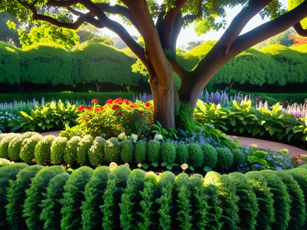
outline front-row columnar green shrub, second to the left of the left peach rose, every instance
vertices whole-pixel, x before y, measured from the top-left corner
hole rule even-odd
[[[79,229],[81,226],[81,204],[84,201],[84,190],[89,182],[93,170],[82,166],[74,170],[64,186],[63,200],[61,201],[62,220],[61,229]]]

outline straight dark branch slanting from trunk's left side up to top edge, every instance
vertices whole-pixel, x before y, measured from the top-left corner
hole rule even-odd
[[[107,15],[92,1],[80,0],[80,3],[93,13],[104,27],[116,33],[144,64],[148,63],[145,58],[145,49],[133,39],[120,23],[108,18]]]

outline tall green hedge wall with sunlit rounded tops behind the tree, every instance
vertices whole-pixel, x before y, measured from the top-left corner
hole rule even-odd
[[[186,53],[178,53],[179,63],[192,70],[213,47],[207,41]],[[210,84],[264,83],[278,86],[287,83],[307,83],[307,44],[293,47],[270,45],[260,50],[247,49],[226,63],[212,78]],[[34,44],[18,49],[0,42],[0,83],[72,85],[103,82],[115,85],[138,85],[146,81],[141,74],[133,73],[136,61],[130,49],[117,50],[102,43],[82,43],[72,51],[56,44]],[[173,74],[177,88],[180,79]]]

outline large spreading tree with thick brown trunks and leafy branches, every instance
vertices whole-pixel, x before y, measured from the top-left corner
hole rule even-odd
[[[307,0],[289,0],[287,11],[278,0],[172,0],[159,5],[154,0],[121,0],[110,6],[101,0],[5,0],[0,11],[7,11],[21,22],[29,17],[46,21],[68,29],[78,29],[84,22],[97,28],[107,28],[116,33],[145,65],[149,74],[154,100],[154,121],[165,128],[175,127],[175,104],[179,99],[191,105],[192,115],[196,101],[212,76],[229,60],[244,50],[282,33],[291,26],[301,36],[307,36],[307,28],[300,21],[307,17]],[[238,4],[242,10],[235,16],[220,40],[200,60],[192,71],[185,70],[177,61],[176,42],[182,27],[193,23],[198,35],[225,26],[225,7]],[[52,15],[41,14],[37,7],[52,6]],[[78,16],[73,21],[62,10]],[[83,13],[87,11],[87,13]],[[268,16],[266,22],[242,35],[243,28],[255,15]],[[61,17],[59,17],[59,14]],[[145,48],[139,45],[127,30],[108,15],[117,14],[127,24],[133,25],[142,35]],[[154,19],[154,20],[153,20]],[[156,24],[154,23],[156,22]],[[173,71],[181,79],[177,92]]]

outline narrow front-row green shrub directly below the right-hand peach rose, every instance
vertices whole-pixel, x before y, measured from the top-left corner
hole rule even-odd
[[[177,175],[175,179],[175,190],[177,195],[177,224],[181,229],[192,228],[192,205],[191,188],[189,186],[189,176],[186,173]]]

